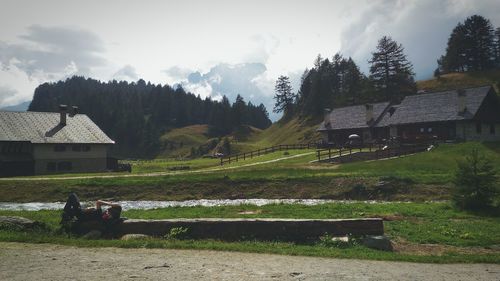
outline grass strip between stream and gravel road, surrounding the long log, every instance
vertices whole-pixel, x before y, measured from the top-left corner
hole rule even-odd
[[[247,213],[246,215],[242,212]],[[253,214],[248,214],[253,213]],[[383,217],[385,232],[395,244],[395,252],[381,252],[352,245],[338,248],[320,241],[309,244],[279,241],[222,242],[214,240],[165,240],[161,238],[142,241],[84,240],[56,234],[60,218],[58,211],[0,211],[0,215],[18,215],[45,222],[49,229],[39,232],[19,232],[1,228],[0,241],[30,243],[57,243],[76,246],[113,246],[148,248],[190,248],[276,253],[308,256],[363,258],[376,260],[401,260],[416,262],[489,262],[500,263],[500,253],[488,250],[500,245],[500,217],[485,216],[454,209],[448,203],[385,203],[385,204],[324,204],[226,206],[226,207],[177,207],[156,210],[130,210],[128,218],[356,218]],[[435,250],[430,251],[432,244]],[[426,248],[427,247],[427,248]],[[422,251],[420,248],[425,248]]]

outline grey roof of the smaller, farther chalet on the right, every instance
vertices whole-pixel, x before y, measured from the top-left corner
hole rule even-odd
[[[389,102],[374,103],[374,120],[377,120],[388,106]],[[333,109],[326,117],[326,122],[323,122],[318,130],[361,129],[370,125],[366,122],[365,105],[354,105]]]

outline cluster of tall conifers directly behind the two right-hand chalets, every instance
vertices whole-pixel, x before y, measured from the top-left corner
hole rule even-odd
[[[320,55],[312,69],[301,77],[294,93],[287,76],[275,86],[275,112],[285,116],[320,116],[326,107],[342,107],[386,100],[398,100],[416,92],[413,66],[401,44],[382,37],[372,53],[370,75],[363,74],[352,58],[337,53],[330,60]]]

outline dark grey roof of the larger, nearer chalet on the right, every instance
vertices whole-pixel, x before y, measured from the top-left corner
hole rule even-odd
[[[464,113],[459,113],[456,90],[406,96],[400,104],[393,106],[394,113],[381,116],[376,126],[469,120],[474,118],[490,91],[490,86],[463,89]]]

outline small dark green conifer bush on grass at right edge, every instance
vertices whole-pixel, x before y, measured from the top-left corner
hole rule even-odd
[[[462,209],[489,207],[498,195],[495,168],[477,149],[458,162],[454,183],[452,200]]]

